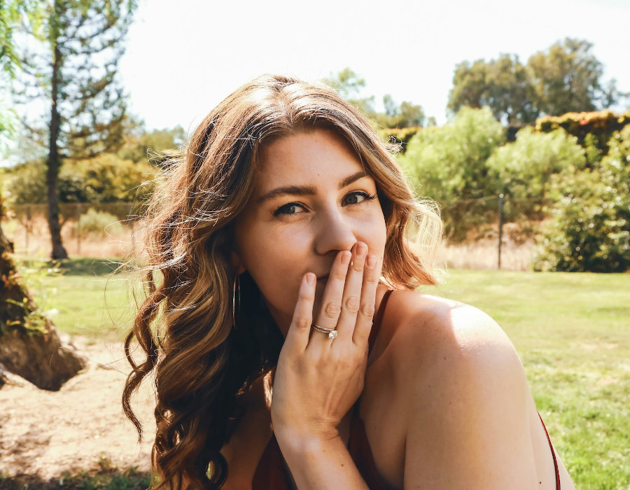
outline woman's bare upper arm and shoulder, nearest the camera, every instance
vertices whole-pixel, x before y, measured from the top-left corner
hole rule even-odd
[[[538,477],[530,423],[535,409],[503,331],[465,305],[425,314],[419,323],[398,339],[397,376],[399,386],[409,386],[410,407],[405,489],[554,488],[554,481]],[[420,337],[429,343],[422,375],[412,347]],[[552,466],[550,453],[548,459]]]

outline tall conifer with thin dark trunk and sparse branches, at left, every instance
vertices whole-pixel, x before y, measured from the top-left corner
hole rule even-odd
[[[116,72],[136,0],[49,0],[21,53],[21,102],[46,100],[46,187],[52,258],[66,258],[59,208],[64,158],[92,158],[123,144],[126,106]],[[31,46],[36,44],[36,48]],[[34,128],[35,130],[41,128]]]

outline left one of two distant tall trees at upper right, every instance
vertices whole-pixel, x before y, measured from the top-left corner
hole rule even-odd
[[[505,125],[532,123],[538,116],[533,87],[517,55],[500,55],[486,62],[461,62],[455,67],[448,109],[489,106]]]

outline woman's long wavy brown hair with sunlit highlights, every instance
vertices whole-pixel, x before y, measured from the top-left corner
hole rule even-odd
[[[387,232],[384,281],[407,289],[437,282],[437,208],[414,199],[391,148],[359,111],[334,90],[294,78],[261,76],[240,87],[167,168],[147,213],[146,295],[125,339],[132,372],[123,408],[141,435],[130,399],[153,372],[157,488],[221,488],[228,465],[219,451],[246,409],[243,394],[277,362],[283,337],[246,272],[240,304],[232,304],[234,223],[252,195],[260,148],[309,128],[348,141],[376,182]]]

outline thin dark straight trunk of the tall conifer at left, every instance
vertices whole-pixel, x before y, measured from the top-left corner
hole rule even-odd
[[[59,225],[59,193],[57,192],[57,181],[59,181],[59,129],[61,118],[57,102],[59,99],[59,70],[62,54],[55,44],[55,54],[52,62],[52,104],[50,109],[50,141],[48,142],[48,160],[46,162],[46,187],[48,188],[48,229],[50,230],[50,241],[52,242],[52,253],[50,258],[58,260],[68,258],[68,253],[64,248],[61,239],[61,225]]]

